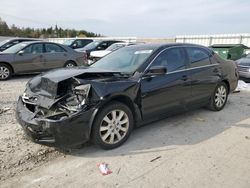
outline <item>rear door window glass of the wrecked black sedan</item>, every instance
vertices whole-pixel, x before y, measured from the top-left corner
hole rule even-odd
[[[208,53],[201,48],[186,48],[191,67],[210,65]]]

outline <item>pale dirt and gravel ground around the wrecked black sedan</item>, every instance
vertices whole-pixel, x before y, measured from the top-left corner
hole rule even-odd
[[[134,130],[120,148],[58,150],[26,140],[15,101],[30,76],[0,82],[0,187],[250,187],[250,92]],[[112,174],[102,176],[97,163]]]

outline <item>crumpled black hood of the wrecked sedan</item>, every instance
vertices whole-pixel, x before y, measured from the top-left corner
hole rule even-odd
[[[91,84],[99,97],[107,96],[110,92],[124,91],[137,84],[136,80],[117,74],[119,72],[92,67],[56,69],[34,77],[28,82],[27,88],[36,95],[56,99],[76,85],[76,80],[78,85]]]

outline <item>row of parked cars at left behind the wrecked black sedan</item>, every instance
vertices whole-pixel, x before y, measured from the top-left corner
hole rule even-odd
[[[0,80],[7,80],[15,74],[88,66],[108,53],[131,44],[93,39],[70,39],[63,44],[26,38],[6,40],[0,43]]]

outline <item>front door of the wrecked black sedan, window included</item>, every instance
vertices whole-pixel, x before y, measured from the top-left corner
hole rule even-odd
[[[167,73],[142,79],[141,103],[144,119],[184,110],[187,100],[191,97],[184,49],[182,47],[165,49],[151,66],[165,66]]]

